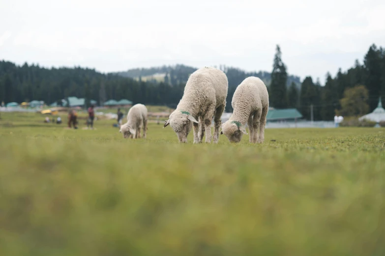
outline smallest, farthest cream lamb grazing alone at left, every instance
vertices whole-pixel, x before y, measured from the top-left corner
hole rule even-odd
[[[120,126],[120,133],[124,138],[140,138],[140,129],[143,125],[143,137],[146,138],[147,131],[147,107],[143,104],[133,105],[127,114],[127,123]]]

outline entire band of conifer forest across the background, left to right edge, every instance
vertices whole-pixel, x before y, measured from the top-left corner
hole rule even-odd
[[[312,77],[304,77],[300,81],[299,77],[287,74],[279,46],[273,58],[271,73],[245,72],[220,65],[218,68],[226,73],[229,80],[226,111],[232,111],[231,99],[237,85],[249,76],[260,77],[266,83],[270,106],[297,108],[305,119],[310,119],[310,107],[313,106],[314,120],[332,120],[335,113],[341,111],[346,90],[356,87],[364,88],[363,94],[355,95],[360,95],[361,100],[368,105],[368,110],[373,111],[379,96],[382,96],[383,101],[385,99],[385,50],[373,44],[364,55],[362,63],[355,60],[352,64],[352,68],[347,71],[339,69],[335,76],[326,73],[325,85]],[[2,60],[0,101],[20,103],[38,100],[50,104],[75,96],[99,103],[110,99],[128,99],[134,103],[176,107],[189,75],[196,69],[175,65],[103,74],[81,67],[47,69],[27,63],[18,66]],[[154,74],[164,77],[160,81],[142,79]]]

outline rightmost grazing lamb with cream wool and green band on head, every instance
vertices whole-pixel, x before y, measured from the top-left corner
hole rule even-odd
[[[268,111],[268,93],[264,82],[258,77],[247,77],[234,92],[231,105],[233,114],[222,125],[221,134],[230,142],[239,142],[249,127],[251,143],[263,143],[265,140],[266,116]],[[257,135],[259,130],[259,136]]]

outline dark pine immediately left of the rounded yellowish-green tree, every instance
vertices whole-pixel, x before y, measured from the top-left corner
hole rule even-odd
[[[335,115],[335,108],[338,105],[338,98],[335,82],[330,76],[330,73],[326,74],[326,83],[324,86],[324,92],[322,94],[322,103],[322,120],[333,120]]]

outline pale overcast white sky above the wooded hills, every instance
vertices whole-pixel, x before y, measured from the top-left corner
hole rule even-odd
[[[100,72],[185,64],[272,70],[324,82],[373,43],[384,0],[1,0],[0,60]]]

